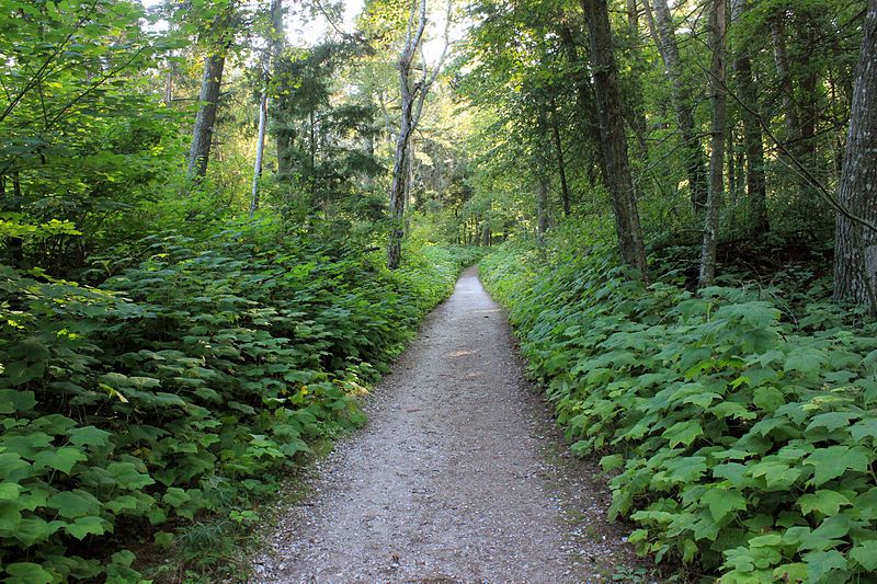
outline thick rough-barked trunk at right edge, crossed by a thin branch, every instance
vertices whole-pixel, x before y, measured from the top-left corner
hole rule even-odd
[[[869,0],[856,67],[838,203],[854,216],[877,222],[877,0]],[[834,299],[875,308],[877,233],[838,214],[834,241]]]

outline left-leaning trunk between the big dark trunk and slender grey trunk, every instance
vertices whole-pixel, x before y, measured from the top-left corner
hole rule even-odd
[[[648,0],[643,0],[648,4]],[[673,99],[673,110],[676,114],[682,137],[683,156],[685,157],[685,172],[688,178],[688,188],[692,196],[692,207],[701,210],[707,197],[707,178],[704,164],[704,151],[701,148],[701,140],[694,126],[694,103],[693,92],[685,82],[683,75],[682,60],[679,56],[676,44],[676,33],[673,24],[673,16],[667,0],[654,0],[654,15],[657,22],[658,51],[664,61],[667,77],[670,79],[670,89]]]

